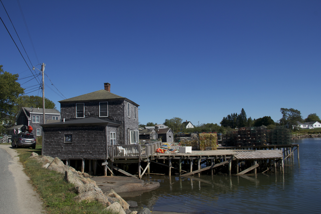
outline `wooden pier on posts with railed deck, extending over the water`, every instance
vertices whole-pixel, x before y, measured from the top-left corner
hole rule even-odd
[[[191,153],[156,153],[156,149],[161,148],[161,146],[161,142],[111,145],[108,151],[110,156],[106,162],[102,163],[105,166],[105,174],[109,170],[110,174],[113,175],[113,170],[116,170],[127,176],[140,179],[145,173],[160,175],[160,173],[150,173],[151,163],[168,167],[169,176],[172,175],[172,170],[178,171],[179,176],[200,175],[205,170],[211,170],[213,175],[213,170],[220,166],[227,168],[225,171],[229,175],[243,175],[250,171],[256,174],[257,170],[262,173],[267,171],[274,171],[275,173],[278,165],[283,172],[283,160],[288,157],[293,158],[295,150],[298,152],[299,159],[298,144],[252,146],[251,148],[218,147],[218,150],[192,151]],[[176,167],[173,162],[175,162]],[[142,163],[144,163],[144,168]],[[184,168],[182,168],[182,163]],[[138,164],[138,175],[132,175],[114,166],[114,164]],[[206,164],[206,167],[201,168],[202,164]]]

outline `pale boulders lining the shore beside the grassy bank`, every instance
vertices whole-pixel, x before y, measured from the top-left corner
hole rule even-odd
[[[49,156],[39,156],[37,153],[32,152],[30,158],[35,158],[38,162],[42,163],[42,167],[49,170],[54,170],[65,174],[64,179],[68,183],[75,185],[75,192],[77,195],[74,201],[98,201],[106,208],[119,214],[147,214],[151,213],[148,208],[143,208],[140,211],[131,211],[129,208],[136,208],[137,202],[125,201],[114,190],[110,189],[106,193],[97,186],[91,176],[87,173],[76,171],[73,167],[66,166],[59,158],[52,158]],[[158,184],[159,185],[159,184]]]

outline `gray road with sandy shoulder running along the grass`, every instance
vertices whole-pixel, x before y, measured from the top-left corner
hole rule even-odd
[[[0,214],[40,214],[42,203],[22,171],[17,151],[0,145]]]

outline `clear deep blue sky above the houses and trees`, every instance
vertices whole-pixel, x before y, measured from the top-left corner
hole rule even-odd
[[[39,61],[18,2],[2,2],[31,63],[45,63],[66,98],[109,82],[140,105],[143,124],[219,124],[242,108],[252,119],[276,121],[280,108],[321,116],[321,1],[20,0]],[[2,4],[0,14],[32,67]],[[2,23],[0,38],[3,69],[32,75]],[[59,110],[64,98],[45,82]]]

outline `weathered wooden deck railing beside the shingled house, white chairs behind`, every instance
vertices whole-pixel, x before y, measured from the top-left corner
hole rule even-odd
[[[148,158],[156,153],[156,149],[161,147],[161,141],[153,141],[148,144],[130,144],[130,145],[110,145],[111,154],[108,156],[114,158]]]

